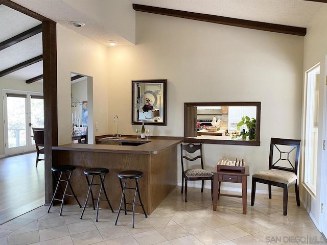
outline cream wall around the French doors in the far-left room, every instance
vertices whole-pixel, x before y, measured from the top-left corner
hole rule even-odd
[[[13,89],[19,91],[31,91],[31,92],[43,92],[43,83],[34,82],[27,84],[26,81],[15,80],[2,77],[0,78],[0,89],[1,94],[3,94],[4,89]],[[4,106],[3,100],[0,100],[0,132],[2,137],[0,137],[0,156],[5,154],[5,143],[4,143]]]

